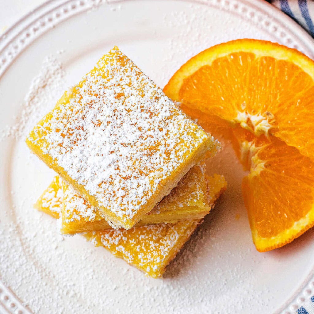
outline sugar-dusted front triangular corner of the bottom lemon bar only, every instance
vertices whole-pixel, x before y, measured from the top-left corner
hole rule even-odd
[[[130,230],[105,230],[86,236],[115,256],[157,278],[199,223],[199,220],[181,221],[133,227]]]

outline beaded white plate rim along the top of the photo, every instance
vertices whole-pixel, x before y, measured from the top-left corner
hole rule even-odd
[[[0,78],[6,72],[11,62],[14,61],[32,41],[61,21],[103,3],[110,5],[129,1],[133,0],[49,0],[43,3],[28,14],[25,14],[0,36]],[[175,1],[198,3],[236,13],[254,24],[258,24],[265,31],[273,34],[274,38],[279,38],[281,41],[284,39],[287,46],[292,46],[295,49],[300,48],[297,44],[292,45],[294,42],[292,37],[297,36],[298,40],[302,42],[302,46],[306,47],[306,50],[303,52],[309,57],[314,58],[314,41],[310,34],[294,20],[266,1]],[[66,8],[67,5],[68,8]],[[63,8],[63,11],[61,11],[61,8]],[[56,12],[58,9],[60,9],[59,12]]]

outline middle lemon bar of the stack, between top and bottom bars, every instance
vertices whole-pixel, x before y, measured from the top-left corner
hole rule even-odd
[[[210,211],[213,204],[208,203],[207,180],[205,179],[205,165],[192,167],[180,180],[171,193],[165,196],[152,211],[145,214],[139,225],[150,225],[158,223],[175,223],[179,220],[202,219]],[[56,184],[56,182],[58,184]],[[63,186],[63,191],[62,190]],[[35,207],[45,211],[42,204],[47,204],[47,193],[62,195],[61,206],[63,234],[74,234],[85,231],[98,231],[111,228],[97,208],[91,206],[72,187],[64,181],[55,177],[42,197],[37,201]],[[54,194],[53,194],[54,193]],[[49,196],[49,194],[48,194]],[[56,201],[54,201],[57,203]],[[60,204],[59,204],[60,206]]]

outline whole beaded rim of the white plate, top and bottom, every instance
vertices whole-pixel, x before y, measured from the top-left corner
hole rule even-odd
[[[0,79],[5,75],[11,63],[41,34],[53,28],[63,20],[101,4],[115,4],[134,0],[49,0],[25,14],[0,36]],[[149,0],[143,0],[149,1]],[[165,0],[164,0],[165,1]],[[287,45],[300,49],[314,59],[313,38],[286,14],[263,0],[175,0],[218,8],[257,24],[273,37],[283,40]],[[257,13],[258,12],[258,13]],[[301,45],[297,45],[297,37]],[[302,306],[314,294],[314,266],[300,286],[292,291],[290,298],[274,314],[290,314]],[[0,311],[31,314],[23,302],[6,287],[0,278]],[[12,307],[12,304],[15,306]]]

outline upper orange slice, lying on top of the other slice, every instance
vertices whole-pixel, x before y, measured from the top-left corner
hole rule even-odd
[[[164,92],[314,156],[314,62],[295,49],[252,39],[223,43],[185,63]]]

